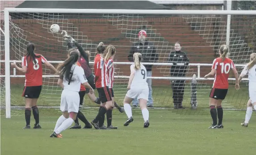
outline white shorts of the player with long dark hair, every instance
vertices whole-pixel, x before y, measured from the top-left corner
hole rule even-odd
[[[78,113],[80,97],[78,92],[63,90],[60,99],[60,110]]]

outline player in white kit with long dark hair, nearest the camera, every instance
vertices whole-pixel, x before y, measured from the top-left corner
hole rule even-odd
[[[60,134],[72,125],[79,111],[80,85],[94,93],[94,90],[88,84],[82,67],[77,65],[79,54],[76,50],[71,51],[68,59],[59,64],[57,71],[60,75],[58,85],[63,88],[61,93],[60,110],[63,112],[56,122],[54,132],[50,137],[62,138]]]

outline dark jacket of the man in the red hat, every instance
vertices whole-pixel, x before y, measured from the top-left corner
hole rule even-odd
[[[130,53],[128,55],[128,60],[133,62],[133,54],[141,53],[144,63],[154,63],[158,60],[158,54],[156,54],[156,49],[153,45],[153,42],[148,42],[147,40],[144,42],[144,45],[141,42],[134,42]],[[152,71],[153,65],[144,65],[147,71]]]

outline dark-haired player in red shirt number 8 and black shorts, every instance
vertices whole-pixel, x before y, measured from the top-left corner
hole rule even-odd
[[[42,63],[56,71],[55,67],[48,63],[41,54],[36,54],[34,51],[34,44],[28,43],[27,53],[21,60],[22,68],[17,67],[15,63],[11,63],[12,67],[25,73],[25,87],[22,96],[25,98],[26,126],[23,129],[30,129],[31,108],[35,119],[34,129],[41,129],[37,101],[42,90]]]

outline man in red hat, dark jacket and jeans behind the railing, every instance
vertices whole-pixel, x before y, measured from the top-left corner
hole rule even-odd
[[[158,60],[158,54],[156,54],[156,49],[154,47],[153,42],[149,42],[146,39],[147,37],[147,32],[145,30],[140,30],[138,33],[138,42],[134,42],[131,49],[130,53],[128,55],[128,60],[130,62],[133,62],[133,54],[134,53],[141,53],[142,58],[144,63],[154,63],[155,61]],[[152,66],[153,65],[144,65],[147,70],[147,77],[152,76]],[[152,99],[152,80],[147,79],[147,85],[149,88],[149,95],[148,95],[148,102],[147,102],[147,107],[153,107],[153,99]],[[133,107],[138,106],[138,100],[134,99],[133,100]]]

